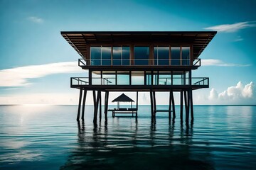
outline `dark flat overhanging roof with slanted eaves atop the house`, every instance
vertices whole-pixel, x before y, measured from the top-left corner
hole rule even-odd
[[[139,45],[154,43],[193,44],[193,58],[198,58],[216,31],[61,31],[63,38],[86,58],[87,45]]]

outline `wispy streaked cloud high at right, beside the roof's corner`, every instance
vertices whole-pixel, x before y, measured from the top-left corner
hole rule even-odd
[[[238,30],[242,30],[245,28],[256,27],[255,21],[246,21],[240,23],[233,23],[233,24],[223,24],[218,26],[211,26],[204,28],[206,30],[216,30],[218,32],[225,32],[225,33],[233,33]]]

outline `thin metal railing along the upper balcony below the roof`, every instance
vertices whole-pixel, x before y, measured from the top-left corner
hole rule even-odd
[[[104,65],[130,65],[134,62],[134,65],[156,65],[156,66],[190,66],[190,60],[166,60],[166,59],[134,59],[134,60],[87,60],[90,65],[95,66],[104,66]],[[78,60],[78,66],[84,67],[87,65],[87,62],[83,59]],[[201,59],[193,60],[193,66],[200,67]]]

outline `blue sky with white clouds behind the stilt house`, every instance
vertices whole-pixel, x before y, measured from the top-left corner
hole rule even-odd
[[[70,77],[87,73],[60,35],[73,30],[216,30],[192,73],[209,77],[210,88],[194,91],[194,104],[256,104],[255,8],[254,0],[0,0],[0,104],[78,104]],[[156,93],[156,103],[167,104],[168,95]],[[139,93],[139,104],[149,101]]]

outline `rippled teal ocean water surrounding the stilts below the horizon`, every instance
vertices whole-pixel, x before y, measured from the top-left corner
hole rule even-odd
[[[157,106],[166,109],[168,106]],[[194,106],[181,124],[139,106],[77,123],[77,106],[0,106],[0,169],[256,169],[256,106]]]

